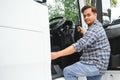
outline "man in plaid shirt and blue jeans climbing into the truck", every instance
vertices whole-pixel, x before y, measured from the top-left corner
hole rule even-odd
[[[83,50],[80,61],[64,68],[65,79],[78,80],[79,76],[86,76],[87,80],[100,80],[109,63],[109,41],[102,24],[97,20],[96,9],[92,6],[84,6],[82,13],[88,30],[80,28],[78,31],[84,36],[64,50],[52,52],[51,58],[56,59]]]

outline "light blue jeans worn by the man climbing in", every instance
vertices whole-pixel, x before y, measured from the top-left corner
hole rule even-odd
[[[78,80],[79,76],[86,76],[87,80],[101,80],[99,70],[95,65],[76,62],[63,70],[65,80]]]

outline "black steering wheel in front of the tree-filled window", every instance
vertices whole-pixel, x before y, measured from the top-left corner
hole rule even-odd
[[[50,19],[50,30],[54,31],[59,29],[64,23],[66,19],[64,17],[55,17]]]

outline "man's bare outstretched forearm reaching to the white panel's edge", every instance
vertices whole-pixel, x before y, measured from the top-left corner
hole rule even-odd
[[[67,55],[73,54],[74,52],[76,52],[76,49],[74,48],[73,45],[71,45],[71,46],[69,46],[61,51],[52,52],[51,59],[54,60],[54,59],[57,59],[57,58],[62,57],[62,56],[67,56]]]

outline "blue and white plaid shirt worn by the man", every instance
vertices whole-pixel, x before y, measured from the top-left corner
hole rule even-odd
[[[110,57],[110,44],[101,23],[96,20],[86,34],[73,44],[77,52],[83,50],[80,62],[94,64],[101,74],[107,70]]]

